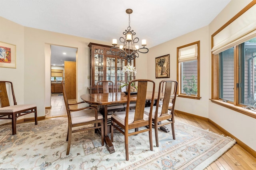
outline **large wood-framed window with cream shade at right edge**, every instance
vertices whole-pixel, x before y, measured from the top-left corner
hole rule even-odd
[[[212,102],[256,118],[255,16],[252,1],[212,35]]]

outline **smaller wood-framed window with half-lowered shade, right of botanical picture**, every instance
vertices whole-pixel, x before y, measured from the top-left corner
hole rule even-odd
[[[200,99],[200,41],[177,48],[178,96]]]

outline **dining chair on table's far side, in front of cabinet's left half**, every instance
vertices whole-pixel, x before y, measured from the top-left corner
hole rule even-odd
[[[109,93],[114,92],[114,83],[108,80],[102,80],[97,82],[97,92],[100,93],[99,87],[102,84],[102,93]],[[109,90],[110,89],[110,90]],[[116,89],[117,92],[117,89]],[[108,113],[112,113],[115,111],[123,111],[124,105],[123,104],[111,104],[107,106]]]

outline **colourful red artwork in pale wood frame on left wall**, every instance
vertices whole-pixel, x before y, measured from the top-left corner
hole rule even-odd
[[[0,67],[16,68],[16,45],[0,41]]]

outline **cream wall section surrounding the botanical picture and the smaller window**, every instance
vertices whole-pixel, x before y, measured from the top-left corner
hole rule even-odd
[[[148,78],[152,79],[158,85],[164,78],[155,78],[155,58],[162,55],[170,54],[170,78],[177,80],[177,47],[200,41],[200,100],[193,100],[188,98],[176,98],[176,110],[192,113],[202,117],[208,117],[208,92],[209,89],[209,75],[208,68],[210,54],[209,54],[209,38],[208,26],[197,29],[196,31],[182,35],[178,38],[172,39],[153,48],[150,48],[148,53]],[[158,89],[158,86],[157,86]]]

